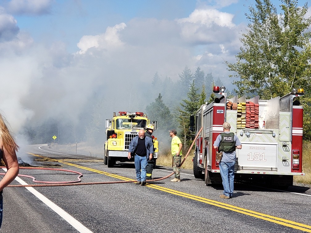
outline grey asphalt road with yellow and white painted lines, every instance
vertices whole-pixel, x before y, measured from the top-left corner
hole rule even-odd
[[[31,165],[78,171],[83,174],[82,182],[135,179],[133,163],[108,168],[101,159],[61,154],[46,144],[29,146],[28,152],[34,154],[27,158]],[[157,167],[153,177],[170,172],[172,168]],[[235,184],[234,198],[220,199],[221,185],[205,186],[192,171],[181,173],[181,182],[169,182],[171,177],[146,186],[7,187],[0,232],[311,232],[311,190],[307,187],[281,191]],[[78,177],[54,170],[21,169],[20,174],[45,181]],[[35,184],[30,178],[19,178]],[[14,180],[12,184],[20,183]]]

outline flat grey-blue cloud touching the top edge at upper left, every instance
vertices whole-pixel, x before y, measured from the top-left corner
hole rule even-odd
[[[43,15],[51,11],[52,0],[12,0],[7,3],[7,11],[20,15]]]

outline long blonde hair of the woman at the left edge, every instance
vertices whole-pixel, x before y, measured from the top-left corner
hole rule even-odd
[[[13,154],[14,151],[18,151],[19,146],[16,144],[15,139],[12,137],[10,130],[5,124],[5,118],[0,113],[0,137],[2,139],[3,148]]]

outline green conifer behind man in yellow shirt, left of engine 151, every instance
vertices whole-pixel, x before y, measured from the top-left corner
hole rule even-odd
[[[180,103],[180,106],[176,107],[178,112],[176,120],[179,123],[179,128],[181,129],[181,138],[183,138],[183,144],[187,150],[188,145],[191,143],[192,135],[189,132],[190,126],[190,115],[197,112],[199,108],[200,95],[197,94],[198,88],[195,87],[194,80],[190,85],[189,92],[187,93],[188,99],[183,99],[184,103]]]

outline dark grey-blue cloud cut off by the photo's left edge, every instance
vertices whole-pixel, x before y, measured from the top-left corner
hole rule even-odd
[[[19,32],[16,24],[14,17],[4,13],[3,8],[0,7],[0,43],[10,41],[16,37]]]

